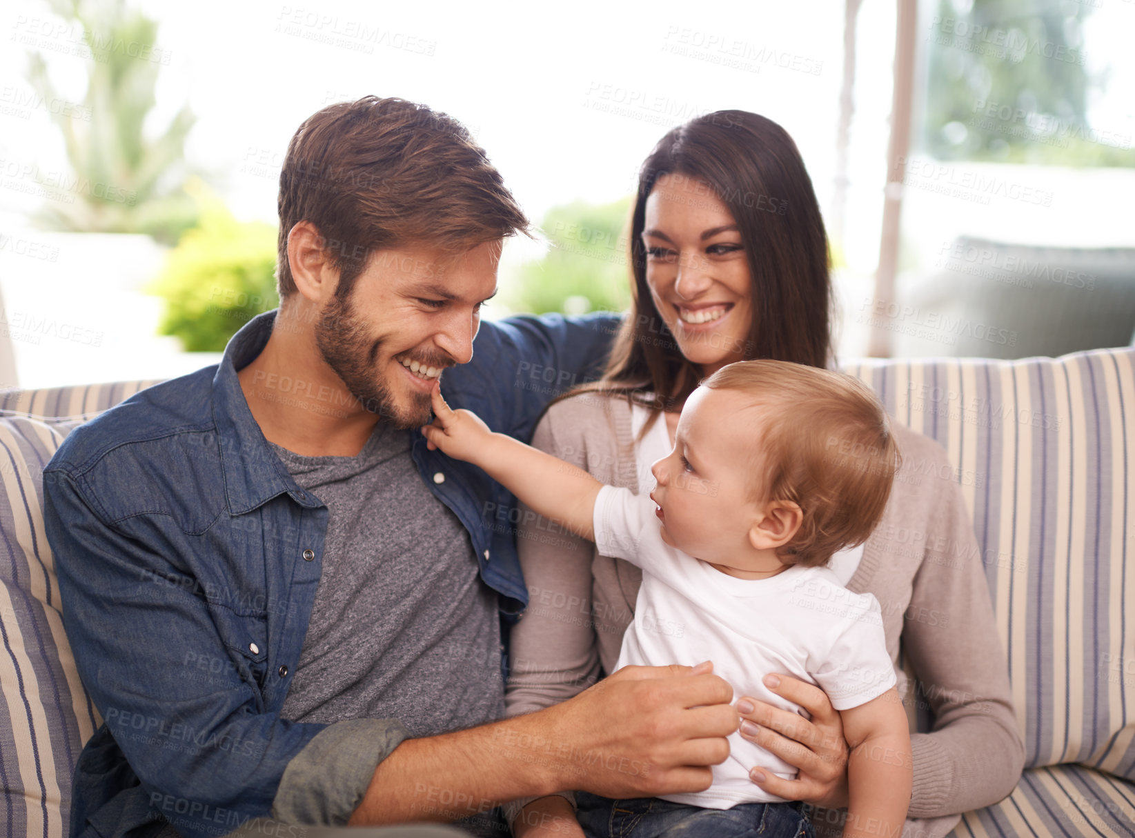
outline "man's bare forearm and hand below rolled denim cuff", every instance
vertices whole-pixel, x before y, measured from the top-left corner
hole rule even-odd
[[[378,765],[350,823],[456,820],[564,788],[608,797],[705,790],[738,723],[732,688],[708,672],[625,667],[539,712],[406,739]]]

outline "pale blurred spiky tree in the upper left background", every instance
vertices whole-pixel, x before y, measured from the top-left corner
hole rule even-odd
[[[183,183],[185,137],[195,117],[184,105],[158,136],[143,125],[154,107],[158,73],[169,53],[155,48],[157,23],[123,0],[49,0],[56,14],[81,25],[90,120],[52,112],[75,170],[79,200],[45,209],[40,221],[84,232],[143,232],[173,244],[196,221]],[[31,56],[28,81],[45,101],[61,96],[47,62]]]

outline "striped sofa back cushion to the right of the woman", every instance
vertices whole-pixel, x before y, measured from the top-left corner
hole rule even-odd
[[[1078,762],[1135,779],[1135,349],[844,370],[949,455],[1026,767]]]

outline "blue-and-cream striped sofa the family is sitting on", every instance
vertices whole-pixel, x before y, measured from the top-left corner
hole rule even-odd
[[[1135,835],[1135,348],[844,370],[948,452],[1007,650],[1026,770],[952,835]],[[151,383],[0,393],[0,836],[67,833],[72,770],[100,725],[62,628],[42,469]],[[909,705],[928,729],[925,702]]]

